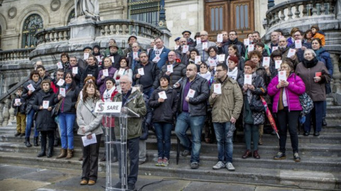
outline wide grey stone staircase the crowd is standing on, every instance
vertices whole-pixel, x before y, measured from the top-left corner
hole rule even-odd
[[[290,190],[303,188],[306,190],[341,190],[341,106],[333,104],[328,98],[328,126],[323,127],[319,137],[299,135],[299,150],[302,161],[293,161],[290,137],[287,140],[287,158],[276,161],[272,157],[278,151],[278,138],[264,134],[264,145],[259,146],[261,159],[242,159],[245,145],[242,132],[237,133],[234,143],[234,167],[236,171],[229,172],[226,168],[212,170],[217,163],[216,144],[202,142],[200,152],[200,168],[190,169],[190,156],[182,157],[176,164],[177,141],[175,134],[171,139],[171,159],[167,167],[156,167],[157,146],[153,132],[147,140],[147,161],[139,166],[139,175],[154,175],[169,178],[186,178],[197,180],[214,180],[224,183],[251,183],[258,185],[276,185],[288,187]],[[0,127],[0,163],[23,164],[28,166],[44,166],[55,168],[81,169],[80,137],[75,136],[75,157],[71,160],[55,159],[60,146],[55,147],[53,158],[37,158],[40,147],[24,146],[24,138],[14,137],[14,126]],[[100,157],[104,149],[100,149]],[[113,166],[117,166],[113,163]],[[105,170],[105,163],[99,162],[99,171]]]

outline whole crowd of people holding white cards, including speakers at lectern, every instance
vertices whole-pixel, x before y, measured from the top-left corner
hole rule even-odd
[[[305,119],[304,136],[311,131],[319,136],[326,125],[326,94],[331,92],[333,65],[330,54],[323,48],[325,36],[318,26],[305,33],[293,28],[288,38],[281,30],[275,30],[269,45],[261,42],[257,31],[247,35],[244,42],[239,41],[234,30],[222,32],[220,42],[208,40],[205,30],[197,33],[195,40],[190,38],[188,30],[182,35],[175,39],[172,50],[163,45],[161,37],[152,40],[151,47],[144,50],[132,35],[129,47],[124,50],[111,39],[105,50],[99,45],[85,47],[82,58],[63,53],[53,74],[48,74],[43,63],[37,62],[29,81],[18,88],[13,99],[16,137],[25,136],[26,146],[32,146],[34,121],[34,146],[39,145],[40,134],[38,157],[52,157],[53,146],[60,139],[57,158],[70,159],[75,129],[87,139],[95,136],[97,144],[82,143],[80,158],[83,161],[80,184],[94,185],[102,128],[114,127],[112,137],[120,139],[119,120],[108,126],[107,116],[95,113],[94,105],[121,102],[141,116],[128,122],[128,188],[134,189],[139,165],[146,161],[145,140],[151,129],[157,139],[156,166],[169,164],[172,130],[183,146],[181,155],[190,155],[193,169],[200,166],[202,132],[203,141],[217,143],[218,162],[212,167],[215,170],[235,170],[232,154],[236,128],[244,131],[245,153],[241,157],[261,158],[258,145],[263,144],[264,124],[268,121],[265,100],[280,137],[274,159],[286,158],[289,132],[293,160],[301,161],[300,121],[303,123]],[[314,105],[305,116],[301,115],[299,98],[303,93],[310,96]],[[117,146],[111,151],[112,162],[121,161],[120,150]],[[104,156],[101,161],[105,160]],[[121,187],[121,177],[115,187]]]

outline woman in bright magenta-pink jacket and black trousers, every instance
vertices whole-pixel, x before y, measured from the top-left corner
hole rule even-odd
[[[289,130],[291,147],[293,148],[293,160],[301,161],[298,155],[298,117],[302,106],[298,96],[305,92],[305,84],[302,79],[293,72],[293,63],[285,60],[281,64],[281,71],[286,71],[286,80],[279,81],[278,75],[271,80],[268,87],[269,96],[274,96],[272,111],[277,113],[279,132],[279,152],[274,156],[275,160],[286,158],[286,134]]]

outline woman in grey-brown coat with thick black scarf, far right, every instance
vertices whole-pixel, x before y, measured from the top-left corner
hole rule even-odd
[[[304,51],[303,61],[296,66],[296,74],[305,83],[305,93],[313,100],[314,108],[305,115],[304,136],[310,134],[310,120],[313,117],[314,136],[322,129],[323,101],[325,101],[325,83],[330,82],[330,73],[323,62],[318,61],[314,50]],[[315,76],[315,77],[313,77]]]

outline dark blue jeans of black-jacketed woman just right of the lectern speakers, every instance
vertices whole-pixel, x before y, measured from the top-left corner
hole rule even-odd
[[[172,124],[168,122],[154,122],[156,139],[158,139],[158,157],[168,158],[171,151]]]

